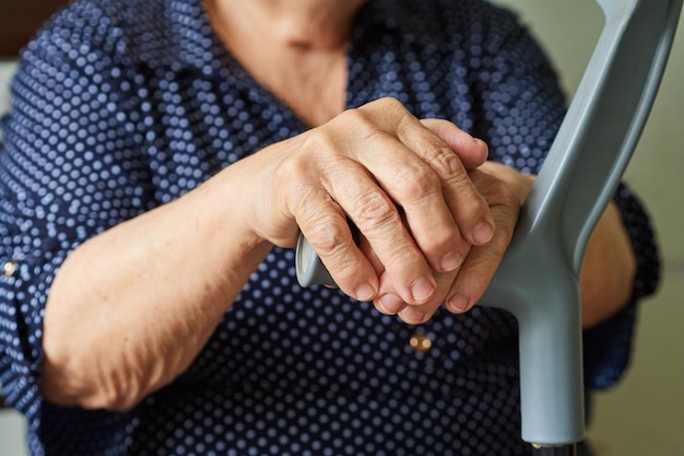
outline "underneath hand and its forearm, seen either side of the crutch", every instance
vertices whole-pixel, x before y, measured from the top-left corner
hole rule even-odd
[[[496,223],[492,241],[473,246],[463,266],[448,273],[435,272],[436,296],[445,296],[445,307],[453,313],[470,309],[490,284],[512,236],[519,208],[532,189],[535,176],[494,162],[470,172],[477,190],[490,203]],[[372,250],[365,252],[373,257]],[[381,265],[375,262],[379,273]],[[592,327],[618,312],[630,299],[636,259],[629,238],[614,203],[609,203],[593,230],[580,271],[582,326]],[[424,323],[439,307],[439,299],[424,305],[410,305],[391,288],[380,291],[376,307],[386,314],[399,314],[406,323]]]

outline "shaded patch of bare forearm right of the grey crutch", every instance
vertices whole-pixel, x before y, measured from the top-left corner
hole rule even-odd
[[[617,313],[632,297],[636,259],[614,203],[599,220],[580,271],[582,326],[590,328]]]

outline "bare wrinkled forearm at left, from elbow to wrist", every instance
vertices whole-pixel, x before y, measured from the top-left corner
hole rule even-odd
[[[45,314],[48,399],[126,409],[196,358],[271,248],[228,199],[245,196],[239,183],[222,177],[92,238],[64,261]]]

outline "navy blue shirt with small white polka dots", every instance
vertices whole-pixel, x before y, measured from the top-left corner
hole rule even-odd
[[[372,0],[354,30],[349,107],[393,96],[485,139],[493,160],[539,169],[564,101],[514,16],[474,0]],[[24,50],[12,90],[0,150],[0,383],[27,416],[32,455],[529,453],[514,318],[476,307],[408,326],[338,291],[300,289],[284,249],[187,372],[134,409],[44,401],[43,312],[68,254],[307,126],[225,51],[198,0],[76,1]],[[639,258],[636,300],[653,290],[658,257],[638,201],[624,187],[616,201]],[[634,313],[633,303],[587,335],[589,385],[620,376]],[[413,348],[416,335],[429,347]]]

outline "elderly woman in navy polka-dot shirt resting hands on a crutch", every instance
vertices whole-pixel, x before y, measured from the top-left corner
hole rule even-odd
[[[13,95],[0,382],[32,455],[529,452],[516,321],[473,307],[564,116],[511,14],[78,0]],[[339,290],[296,284],[299,232]],[[657,266],[621,187],[582,266],[588,386]]]

